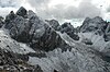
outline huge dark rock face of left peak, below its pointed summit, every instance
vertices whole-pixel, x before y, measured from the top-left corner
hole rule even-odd
[[[28,13],[29,19],[24,19],[18,14],[14,14],[15,17],[11,19],[12,15],[13,13],[8,15],[7,20],[9,22],[6,22],[4,27],[9,29],[11,37],[15,40],[26,43],[34,49],[46,51],[64,45],[57,33],[32,11]]]

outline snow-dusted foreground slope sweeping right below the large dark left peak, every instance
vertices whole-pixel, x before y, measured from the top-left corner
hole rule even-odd
[[[100,52],[80,43],[75,43],[68,35],[58,33],[72,47],[62,51],[61,48],[46,53],[46,58],[30,57],[29,63],[40,64],[44,72],[109,72],[109,63],[101,59]],[[70,39],[70,40],[69,40]],[[108,64],[108,67],[105,67]]]

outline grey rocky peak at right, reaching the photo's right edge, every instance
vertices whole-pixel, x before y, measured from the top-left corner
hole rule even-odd
[[[110,40],[110,23],[107,23],[99,16],[94,19],[87,17],[79,27],[79,32],[94,32],[96,35],[103,36],[106,41]]]

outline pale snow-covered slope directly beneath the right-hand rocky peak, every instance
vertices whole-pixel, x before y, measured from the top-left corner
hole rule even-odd
[[[110,56],[110,41],[105,41],[103,36],[96,35],[95,33],[79,33],[80,40],[78,43],[81,43],[85,38],[91,40],[92,45],[91,47],[106,56]]]

